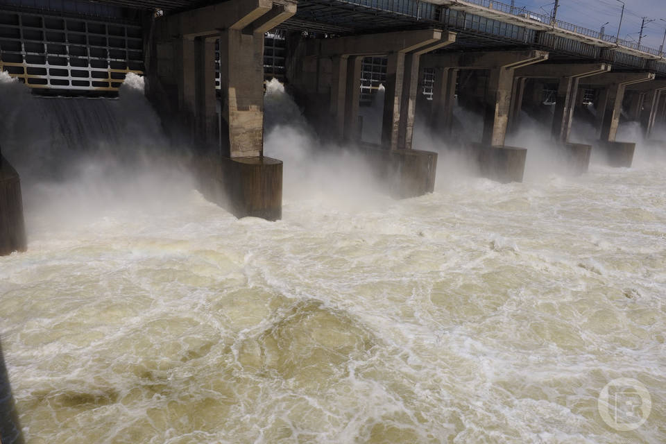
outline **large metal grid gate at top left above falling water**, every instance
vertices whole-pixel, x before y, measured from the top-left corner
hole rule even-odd
[[[117,91],[143,60],[139,26],[0,10],[0,69],[29,87]]]

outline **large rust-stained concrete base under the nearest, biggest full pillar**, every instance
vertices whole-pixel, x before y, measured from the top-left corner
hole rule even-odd
[[[201,158],[194,162],[201,193],[237,218],[282,219],[282,161],[271,157]]]

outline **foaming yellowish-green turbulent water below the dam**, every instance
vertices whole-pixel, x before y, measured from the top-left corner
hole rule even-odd
[[[28,443],[666,442],[666,157],[499,185],[441,156],[391,200],[309,144],[268,132],[275,223],[167,160],[24,178],[0,335]],[[598,409],[619,377],[651,395],[628,432]]]

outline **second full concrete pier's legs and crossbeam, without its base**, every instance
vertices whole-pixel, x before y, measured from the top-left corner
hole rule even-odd
[[[327,116],[325,119],[319,116],[314,119],[320,133],[334,133],[339,140],[352,140],[359,133],[357,102],[362,58],[388,54],[383,140],[386,146],[393,144],[394,148],[409,145],[413,127],[413,111],[409,110],[413,109],[416,100],[418,56],[454,41],[454,33],[437,29],[302,39],[296,44],[298,47],[293,48],[293,53],[300,54],[302,60],[290,68],[291,85],[301,101],[327,99]],[[313,69],[313,58],[318,60],[319,67],[330,61],[330,78],[323,69]],[[330,92],[329,97],[325,97],[325,92]],[[316,112],[317,107],[311,108],[315,108]],[[406,110],[404,114],[400,112],[402,109]],[[308,117],[312,119],[313,116]],[[333,131],[330,130],[330,121],[334,122]],[[399,138],[402,138],[401,143]]]

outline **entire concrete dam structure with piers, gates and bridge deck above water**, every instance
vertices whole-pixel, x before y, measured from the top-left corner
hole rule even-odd
[[[663,53],[498,2],[74,3],[75,12],[0,2],[0,70],[34,94],[117,96],[129,73],[144,76],[173,144],[192,147],[200,191],[237,217],[282,216],[283,165],[264,156],[272,78],[321,141],[358,148],[395,198],[434,191],[438,158],[452,147],[481,176],[521,182],[534,147],[506,140],[526,112],[574,175],[590,158],[631,167],[639,141],[617,140],[620,123],[640,123],[649,140],[666,121]],[[380,137],[364,140],[373,123],[361,108],[380,85]],[[476,113],[482,129],[460,137],[456,109]],[[596,134],[572,140],[574,119]],[[438,153],[414,146],[417,120],[441,140]],[[26,248],[18,177],[3,160],[0,254]]]

